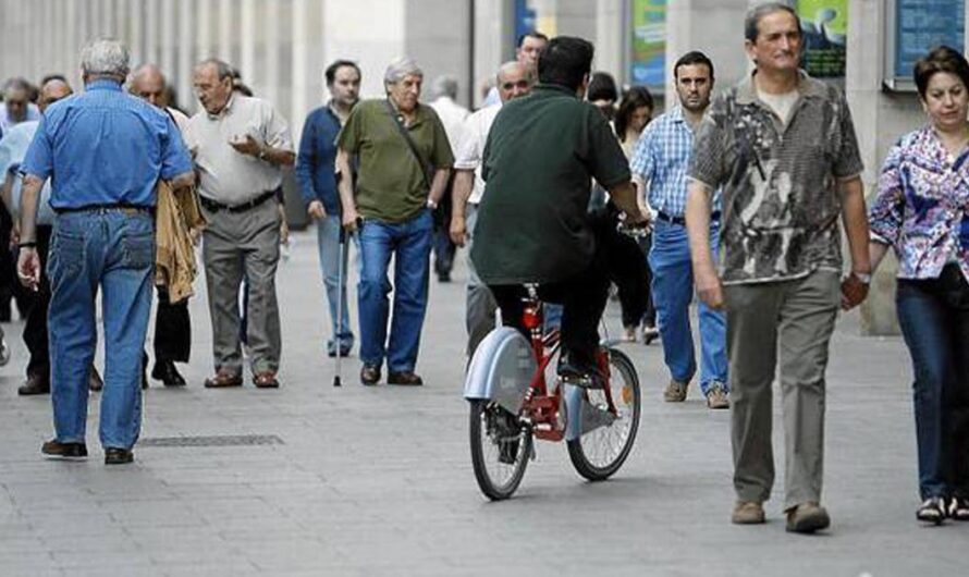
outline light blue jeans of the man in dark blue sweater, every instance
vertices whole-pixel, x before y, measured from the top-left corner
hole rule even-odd
[[[320,254],[320,272],[323,275],[323,286],[327,290],[327,300],[330,304],[330,334],[333,336],[327,341],[327,352],[336,352],[336,341],[341,351],[353,348],[353,330],[349,327],[349,314],[346,310],[346,261],[347,247],[343,249],[343,285],[340,286],[340,217],[327,214],[317,221],[317,246]],[[349,237],[344,241],[349,243]],[[338,302],[339,298],[342,302]],[[341,309],[338,326],[336,308]]]

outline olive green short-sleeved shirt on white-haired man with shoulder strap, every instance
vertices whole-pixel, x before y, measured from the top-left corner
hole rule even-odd
[[[429,177],[432,170],[451,168],[454,156],[447,134],[431,107],[418,105],[406,130],[431,167]],[[365,219],[405,222],[427,206],[430,183],[425,183],[420,164],[397,128],[387,99],[365,100],[354,107],[338,144],[359,159],[354,196]]]

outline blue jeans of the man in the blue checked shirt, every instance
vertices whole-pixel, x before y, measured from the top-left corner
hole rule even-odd
[[[715,223],[710,226],[710,244],[715,260],[720,244],[720,230]],[[685,226],[657,220],[649,266],[666,367],[673,379],[687,383],[697,372],[697,357],[689,318],[694,272]],[[712,381],[727,386],[726,320],[723,312],[703,303],[697,305],[697,316],[700,320],[700,389],[706,395]]]

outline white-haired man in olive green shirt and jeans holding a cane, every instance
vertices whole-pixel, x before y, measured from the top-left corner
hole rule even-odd
[[[438,114],[418,102],[424,72],[417,64],[408,58],[392,62],[383,82],[387,98],[357,105],[338,139],[336,169],[348,175],[351,157],[359,161],[356,187],[351,179],[340,181],[340,201],[343,224],[359,229],[360,382],[377,384],[387,357],[388,384],[419,385],[424,381],[414,368],[427,310],[431,211],[444,194],[454,157]],[[392,256],[394,317],[388,343]]]

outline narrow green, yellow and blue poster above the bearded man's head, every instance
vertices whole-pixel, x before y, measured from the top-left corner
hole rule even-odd
[[[666,81],[666,0],[633,0],[630,84],[662,91]]]

